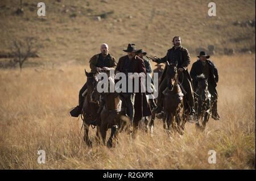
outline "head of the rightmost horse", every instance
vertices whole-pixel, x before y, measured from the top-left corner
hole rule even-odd
[[[201,100],[206,101],[208,99],[208,81],[204,74],[200,74],[197,77],[197,92],[200,95]]]

